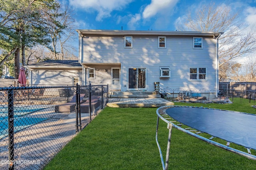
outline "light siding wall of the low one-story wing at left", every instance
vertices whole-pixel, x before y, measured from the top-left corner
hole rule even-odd
[[[37,69],[31,70],[29,84],[32,85],[72,85],[73,77],[82,82],[82,69]]]

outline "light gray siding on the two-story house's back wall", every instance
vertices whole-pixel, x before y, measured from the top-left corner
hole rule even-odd
[[[192,36],[166,36],[166,48],[158,48],[158,36],[133,36],[132,48],[124,48],[124,36],[90,36],[82,39],[82,63],[121,63],[122,91],[128,90],[128,68],[146,68],[146,90],[154,90],[154,82],[162,87],[216,88],[216,40],[203,37],[203,49],[193,49]],[[160,79],[160,67],[170,67],[169,79]],[[99,69],[95,84],[108,83],[104,65]],[[207,80],[189,80],[190,67],[207,68]],[[111,70],[108,66],[108,70]],[[102,74],[102,75],[100,75]],[[111,75],[111,73],[109,73]]]

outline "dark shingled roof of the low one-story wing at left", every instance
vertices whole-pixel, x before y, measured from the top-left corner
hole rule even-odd
[[[28,68],[82,68],[78,60],[46,60],[27,65]]]

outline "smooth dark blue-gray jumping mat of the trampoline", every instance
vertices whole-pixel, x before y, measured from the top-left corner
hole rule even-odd
[[[256,115],[200,107],[171,107],[166,113],[201,132],[256,150]]]

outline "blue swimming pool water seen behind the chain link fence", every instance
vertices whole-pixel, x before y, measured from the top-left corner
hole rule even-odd
[[[46,120],[47,118],[45,117],[31,117],[30,113],[40,111],[47,107],[49,106],[15,106],[14,132]],[[8,136],[8,106],[0,107],[0,139],[6,136]]]

